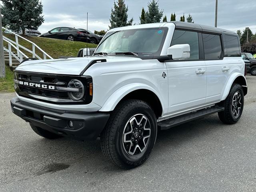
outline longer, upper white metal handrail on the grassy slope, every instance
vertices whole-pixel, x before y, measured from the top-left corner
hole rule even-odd
[[[18,50],[19,50],[19,48],[22,48],[22,49],[24,49],[24,50],[26,50],[26,51],[29,50],[29,49],[27,49],[27,48],[25,48],[24,46],[21,46],[21,45],[19,44],[19,42],[18,42],[18,37],[19,37],[19,38],[22,38],[23,40],[29,42],[30,44],[32,44],[32,51],[29,50],[28,52],[32,53],[33,57],[36,57],[36,58],[38,58],[38,59],[41,59],[41,58],[36,54],[36,52],[35,52],[36,48],[38,48],[38,50],[40,50],[40,51],[42,52],[42,54],[43,54],[43,56],[44,56],[44,59],[47,59],[47,57],[50,58],[50,59],[53,59],[50,55],[48,55],[44,50],[42,50],[42,49],[41,49],[38,45],[36,45],[35,43],[31,42],[30,40],[27,40],[26,38],[24,38],[24,37],[22,37],[22,36],[20,36],[20,35],[18,35],[18,34],[16,34],[16,33],[14,33],[14,32],[12,32],[12,31],[10,31],[10,30],[4,28],[4,27],[2,27],[2,28],[3,28],[4,30],[7,30],[8,32],[10,32],[10,33],[12,33],[12,34],[15,35],[15,41],[16,41],[16,42],[14,42],[14,41],[12,41],[12,40],[6,38],[6,37],[3,37],[3,38],[5,38],[5,39],[8,40],[9,42],[12,42],[13,44],[15,44],[15,45],[16,45],[16,48],[17,48]]]

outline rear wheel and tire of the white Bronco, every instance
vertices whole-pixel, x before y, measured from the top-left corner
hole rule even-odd
[[[227,98],[220,104],[224,111],[218,112],[220,120],[225,124],[235,124],[242,116],[244,108],[244,92],[240,84],[232,84]]]

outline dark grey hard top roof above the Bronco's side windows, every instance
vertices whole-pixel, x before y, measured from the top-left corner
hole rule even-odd
[[[225,30],[217,27],[211,27],[207,25],[195,24],[195,23],[188,23],[188,22],[181,22],[181,21],[171,21],[169,23],[174,23],[177,29],[188,29],[188,30],[211,32],[211,33],[227,32],[227,33],[236,34],[233,31],[229,31],[229,30]]]

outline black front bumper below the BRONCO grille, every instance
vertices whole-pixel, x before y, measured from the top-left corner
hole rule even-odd
[[[95,140],[106,123],[109,113],[76,112],[56,110],[30,104],[14,97],[11,100],[12,112],[22,119],[52,133],[77,140]],[[72,121],[72,128],[69,126]]]

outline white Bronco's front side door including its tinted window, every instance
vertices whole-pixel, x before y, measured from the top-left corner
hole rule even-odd
[[[176,44],[189,44],[190,58],[166,62],[169,114],[203,106],[206,98],[206,64],[199,60],[198,32],[175,30],[171,46]]]

